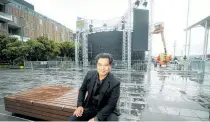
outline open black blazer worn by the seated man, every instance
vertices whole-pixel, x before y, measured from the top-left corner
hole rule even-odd
[[[94,83],[97,78],[97,71],[89,71],[79,89],[77,107],[87,107],[90,104],[90,97]],[[87,97],[86,96],[87,93]],[[96,115],[101,121],[104,121],[116,108],[118,98],[120,96],[120,80],[117,79],[112,73],[109,73],[107,78],[103,81],[102,86],[99,90],[99,112]]]

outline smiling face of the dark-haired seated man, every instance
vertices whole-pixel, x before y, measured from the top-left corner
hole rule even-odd
[[[97,62],[97,71],[99,76],[106,76],[111,71],[111,65],[108,58],[99,58]]]

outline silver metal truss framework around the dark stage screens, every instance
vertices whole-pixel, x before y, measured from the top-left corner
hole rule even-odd
[[[153,0],[150,0],[153,1]],[[129,2],[129,9],[128,11],[119,19],[116,19],[117,22],[115,22],[115,24],[109,24],[109,22],[111,22],[110,20],[107,21],[102,21],[102,20],[85,20],[85,26],[83,29],[79,30],[79,32],[77,33],[77,42],[82,42],[82,60],[83,60],[83,66],[88,66],[88,34],[91,33],[97,33],[97,32],[104,32],[104,31],[123,31],[123,40],[122,40],[122,61],[125,65],[127,65],[128,69],[131,69],[131,44],[132,44],[132,31],[133,31],[133,9],[137,8],[140,4],[144,3],[144,0],[136,0],[133,4],[131,4],[131,0],[128,1]],[[139,3],[137,5],[137,2]],[[88,23],[91,23],[92,28],[90,31],[90,26],[88,26]],[[97,23],[97,25],[101,25],[99,27],[95,26],[94,23]],[[98,24],[99,23],[99,24]],[[90,24],[89,24],[90,25]],[[150,25],[151,25],[151,20],[150,20]],[[149,29],[149,31],[151,31]],[[82,35],[82,38],[80,37],[80,35]],[[149,58],[148,58],[148,62],[150,63],[150,57],[151,57],[151,37],[152,35],[149,34]],[[75,43],[75,47],[76,47],[76,43]],[[79,51],[78,49],[75,49],[75,61],[76,64],[78,64],[78,57],[79,57]],[[150,67],[150,66],[148,66]],[[150,69],[148,68],[148,71]]]

